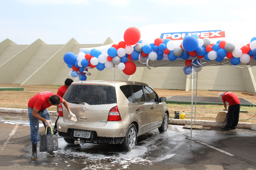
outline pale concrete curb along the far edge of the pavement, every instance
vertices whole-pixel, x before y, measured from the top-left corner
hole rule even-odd
[[[16,109],[16,108],[0,108],[0,113],[16,113],[16,114],[28,114],[27,109]],[[51,116],[58,116],[57,111],[49,111]],[[194,123],[194,120],[193,120]],[[191,124],[191,119],[170,119],[169,124],[185,125]],[[212,126],[212,127],[223,127],[226,123],[219,123],[215,121],[202,121],[196,120],[195,125]],[[251,128],[251,123],[241,123],[237,125],[238,128]]]

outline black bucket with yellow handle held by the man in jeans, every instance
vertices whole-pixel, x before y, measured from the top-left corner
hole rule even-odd
[[[51,131],[52,127],[50,126]],[[46,127],[47,131],[47,127]],[[57,134],[41,134],[40,135],[40,152],[56,151],[59,149]]]

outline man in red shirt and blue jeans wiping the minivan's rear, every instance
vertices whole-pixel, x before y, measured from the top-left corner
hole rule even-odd
[[[48,111],[48,107],[57,106],[59,109],[60,103],[67,108],[69,111],[69,116],[73,119],[76,119],[75,114],[73,114],[69,108],[68,102],[62,99],[62,97],[52,93],[50,91],[44,91],[36,94],[28,101],[28,117],[30,121],[30,141],[32,143],[32,155],[31,159],[37,159],[36,147],[37,142],[39,141],[39,121],[41,120],[44,124],[44,127],[50,127],[52,124],[51,117]],[[47,128],[47,134],[51,134],[50,128]],[[53,151],[49,151],[49,154],[54,156]]]

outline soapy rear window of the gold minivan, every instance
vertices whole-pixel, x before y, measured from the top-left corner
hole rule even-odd
[[[104,85],[71,85],[63,96],[67,102],[85,102],[89,105],[116,103],[115,87]]]

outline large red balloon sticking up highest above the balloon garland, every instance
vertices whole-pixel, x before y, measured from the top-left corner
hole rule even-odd
[[[140,30],[136,27],[130,27],[124,32],[124,42],[127,45],[134,45],[140,40]]]

